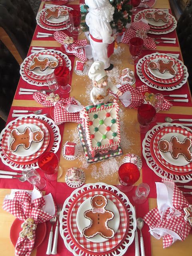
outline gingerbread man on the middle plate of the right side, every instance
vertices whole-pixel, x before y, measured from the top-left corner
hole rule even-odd
[[[148,67],[150,69],[158,69],[160,73],[164,73],[166,70],[170,72],[172,75],[176,75],[176,70],[174,69],[175,62],[173,60],[169,60],[168,62],[164,62],[164,60],[159,59],[158,62],[150,61],[148,63]]]

